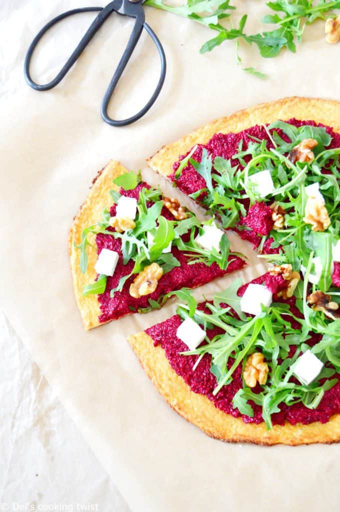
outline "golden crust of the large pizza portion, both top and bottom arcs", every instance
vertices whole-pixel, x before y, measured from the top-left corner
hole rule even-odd
[[[156,172],[169,176],[173,173],[173,163],[180,155],[188,153],[195,144],[207,143],[215,133],[237,133],[255,124],[270,123],[276,119],[288,120],[292,117],[314,120],[332,126],[335,132],[340,133],[340,102],[314,98],[284,98],[254,106],[203,126],[163,147],[148,163]],[[170,406],[211,437],[231,442],[289,445],[340,441],[338,414],[325,424],[286,423],[283,426],[274,426],[272,431],[267,431],[264,423],[244,423],[241,418],[234,418],[217,409],[206,396],[191,391],[184,379],[171,368],[164,350],[159,346],[153,347],[152,339],[145,332],[130,336],[129,343],[156,389]]]

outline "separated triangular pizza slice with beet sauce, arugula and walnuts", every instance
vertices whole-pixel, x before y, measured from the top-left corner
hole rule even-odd
[[[160,308],[169,292],[245,265],[215,224],[199,223],[115,161],[98,174],[74,219],[70,252],[86,329]]]

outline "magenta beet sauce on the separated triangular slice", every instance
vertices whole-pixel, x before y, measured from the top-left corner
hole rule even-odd
[[[140,183],[134,190],[120,190],[120,193],[124,196],[139,198],[140,190],[143,188],[149,188],[146,183]],[[116,213],[116,205],[113,205],[110,209],[111,216]],[[162,209],[162,215],[169,220],[174,220],[172,214],[166,208]],[[110,228],[111,229],[111,228]],[[113,231],[113,229],[112,229]],[[129,294],[129,287],[135,276],[131,276],[124,284],[121,292],[115,292],[113,297],[110,297],[110,290],[115,288],[122,276],[127,275],[131,272],[134,262],[130,261],[126,265],[123,264],[123,257],[121,254],[121,242],[119,239],[114,239],[106,234],[97,234],[96,243],[98,253],[103,248],[117,251],[120,254],[119,262],[116,267],[116,271],[112,277],[108,276],[106,290],[103,294],[98,295],[98,301],[100,304],[101,315],[99,316],[100,322],[108,322],[109,320],[115,320],[121,316],[137,311],[140,308],[146,308],[149,306],[149,298],[154,301],[157,300],[161,295],[164,295],[170,291],[178,290],[182,287],[195,288],[197,286],[209,283],[210,281],[225,275],[226,273],[233,272],[244,266],[243,260],[238,257],[230,257],[231,263],[228,269],[221,270],[216,263],[213,263],[210,267],[203,263],[195,263],[189,265],[189,258],[180,252],[177,247],[173,247],[171,252],[175,258],[180,262],[180,267],[175,267],[170,272],[167,272],[162,276],[158,282],[158,286],[153,293],[145,295],[144,297],[134,298]]]

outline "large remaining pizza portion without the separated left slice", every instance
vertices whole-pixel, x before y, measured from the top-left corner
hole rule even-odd
[[[340,440],[340,103],[287,98],[202,127],[149,160],[268,272],[211,302],[188,290],[129,343],[170,406],[225,441]]]

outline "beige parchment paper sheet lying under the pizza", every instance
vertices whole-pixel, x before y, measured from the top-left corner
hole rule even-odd
[[[235,3],[254,19],[265,12],[258,0]],[[340,446],[223,444],[186,423],[158,396],[125,337],[168,317],[174,304],[85,333],[66,241],[90,181],[109,158],[137,170],[163,144],[258,102],[290,95],[340,99],[340,46],[326,45],[322,23],[309,29],[297,55],[264,61],[242,46],[245,64],[269,74],[262,81],[235,66],[232,44],[199,55],[211,36],[205,27],[147,9],[167,54],[165,87],[140,122],[114,129],[101,120],[100,101],[130,33],[129,20],[112,17],[55,90],[37,93],[22,76],[25,51],[38,29],[78,6],[71,0],[3,0],[1,6],[0,251],[6,315],[132,510],[337,509]],[[46,82],[59,71],[92,17],[69,19],[46,37],[35,76]],[[259,27],[250,24],[249,30]],[[144,104],[157,80],[157,59],[143,36],[112,115],[132,114]],[[201,292],[209,296],[223,284]]]

